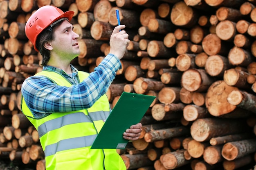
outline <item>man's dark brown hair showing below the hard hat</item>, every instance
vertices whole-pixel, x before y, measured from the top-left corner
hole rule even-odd
[[[40,54],[42,55],[43,59],[42,59],[42,63],[41,66],[45,66],[47,65],[49,59],[50,59],[50,51],[47,50],[44,47],[44,44],[46,42],[52,41],[54,40],[54,30],[61,25],[61,23],[63,22],[63,20],[61,22],[56,23],[54,26],[52,27],[48,27],[46,28],[44,31],[42,31],[42,33],[40,33],[36,39],[36,48],[39,50]]]

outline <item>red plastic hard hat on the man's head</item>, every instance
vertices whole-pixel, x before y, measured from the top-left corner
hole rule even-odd
[[[25,33],[36,48],[36,39],[38,35],[48,26],[61,18],[67,18],[69,21],[72,19],[74,11],[63,12],[61,9],[51,5],[45,5],[34,12],[27,20],[25,26]]]

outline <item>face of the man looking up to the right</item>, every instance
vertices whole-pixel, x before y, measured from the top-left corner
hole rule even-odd
[[[52,54],[63,57],[63,59],[74,59],[80,54],[77,39],[79,35],[73,31],[73,26],[67,20],[64,20],[54,30],[54,40],[52,44]]]

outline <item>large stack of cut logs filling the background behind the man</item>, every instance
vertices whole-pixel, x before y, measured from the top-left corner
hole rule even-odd
[[[42,57],[25,36],[38,7],[75,11],[81,54],[92,72],[117,25],[130,45],[107,95],[157,96],[140,139],[117,150],[127,169],[249,170],[256,162],[256,0],[1,0],[0,159],[45,168],[38,133],[20,111],[20,87]]]

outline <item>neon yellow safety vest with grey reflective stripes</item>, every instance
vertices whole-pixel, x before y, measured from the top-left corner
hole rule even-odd
[[[36,75],[46,76],[58,85],[71,86],[65,77],[55,72],[44,70]],[[79,72],[80,81],[87,76]],[[52,113],[40,119],[34,118],[23,98],[21,108],[38,130],[45,152],[46,170],[126,170],[115,149],[104,149],[104,152],[102,149],[90,149],[110,114],[106,95],[89,109]]]

